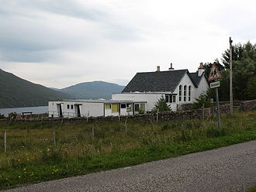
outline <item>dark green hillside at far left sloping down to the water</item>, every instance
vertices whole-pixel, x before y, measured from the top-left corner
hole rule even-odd
[[[63,98],[71,97],[0,69],[0,108],[43,106]]]

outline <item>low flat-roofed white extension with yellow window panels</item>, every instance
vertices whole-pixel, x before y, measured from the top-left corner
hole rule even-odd
[[[49,101],[50,117],[98,117],[109,115],[136,115],[147,111],[146,101],[64,100]]]

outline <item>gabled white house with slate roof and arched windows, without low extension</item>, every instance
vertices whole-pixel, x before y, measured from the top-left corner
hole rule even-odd
[[[157,71],[137,73],[122,93],[112,94],[112,100],[147,101],[147,110],[151,111],[163,95],[171,110],[176,111],[178,105],[192,103],[208,89],[202,63],[195,73],[174,70],[171,64],[169,70],[161,71],[157,66]]]

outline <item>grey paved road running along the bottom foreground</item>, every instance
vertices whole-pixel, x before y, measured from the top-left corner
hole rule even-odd
[[[244,191],[256,185],[256,140],[8,191]]]

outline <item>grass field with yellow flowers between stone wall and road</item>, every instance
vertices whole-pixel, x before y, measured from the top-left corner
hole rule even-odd
[[[216,119],[95,124],[1,122],[0,189],[131,166],[256,139],[256,111]],[[94,130],[94,134],[92,133]],[[56,146],[54,146],[54,130]],[[92,136],[94,135],[94,137]],[[4,143],[3,135],[0,142]]]

